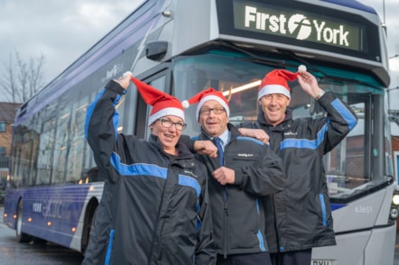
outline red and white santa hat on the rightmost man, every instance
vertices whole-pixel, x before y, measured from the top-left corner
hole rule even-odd
[[[284,96],[291,98],[291,91],[290,87],[288,87],[287,81],[296,80],[302,71],[306,71],[304,66],[300,66],[296,73],[283,69],[275,69],[267,73],[259,86],[257,99],[259,100],[262,96],[269,94],[283,94]]]

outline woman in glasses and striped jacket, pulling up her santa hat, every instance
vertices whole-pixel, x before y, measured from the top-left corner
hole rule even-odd
[[[148,141],[116,130],[116,104],[131,81],[153,105]],[[86,137],[106,184],[83,264],[215,263],[207,172],[178,143],[184,121],[177,98],[131,73],[109,81],[89,105]]]

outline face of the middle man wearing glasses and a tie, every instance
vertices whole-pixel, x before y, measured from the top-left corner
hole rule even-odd
[[[210,137],[217,137],[227,130],[226,110],[218,101],[208,100],[201,106],[198,123]]]

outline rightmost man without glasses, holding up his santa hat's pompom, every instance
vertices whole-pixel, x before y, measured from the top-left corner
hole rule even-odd
[[[296,79],[327,115],[292,118],[288,81]],[[239,130],[269,142],[283,159],[286,178],[284,190],[264,200],[271,258],[274,265],[311,264],[313,247],[336,244],[322,158],[356,126],[357,116],[347,103],[322,90],[304,66],[297,72],[274,69],[266,74],[258,100],[262,111],[257,123],[243,124],[258,130]]]

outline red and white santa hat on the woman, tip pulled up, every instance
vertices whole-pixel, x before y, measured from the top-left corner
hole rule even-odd
[[[148,118],[148,125],[166,115],[181,117],[184,121],[183,107],[179,99],[151,87],[139,79],[130,78],[135,83],[140,95],[143,96],[144,102],[148,105],[153,105],[153,110]]]

